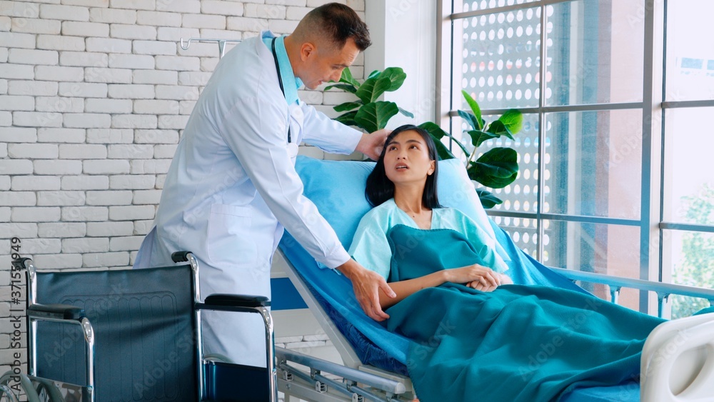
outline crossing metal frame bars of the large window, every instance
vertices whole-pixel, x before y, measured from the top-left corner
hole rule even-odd
[[[463,0],[459,0],[463,1]],[[453,13],[454,1],[437,0],[436,24],[436,88],[437,99],[434,121],[448,132],[453,132],[453,117],[458,112],[453,109],[460,91],[455,91],[453,82],[453,23],[465,18],[483,16],[507,11],[550,6],[576,0],[534,0],[510,6],[496,6],[490,9]],[[667,247],[665,231],[714,233],[714,226],[675,223],[664,221],[663,183],[665,181],[665,112],[675,108],[698,108],[714,106],[712,100],[666,101],[666,11],[668,0],[645,0],[641,17],[644,21],[644,64],[643,64],[643,101],[578,104],[566,106],[545,106],[544,96],[538,97],[538,106],[518,108],[524,114],[538,114],[538,154],[543,154],[543,121],[545,114],[571,111],[612,111],[620,109],[638,109],[642,112],[642,170],[640,194],[640,219],[622,219],[597,216],[580,216],[563,213],[543,213],[545,205],[543,190],[545,175],[538,175],[538,209],[533,212],[488,210],[490,216],[511,218],[531,218],[537,222],[538,246],[536,257],[543,261],[543,221],[557,220],[578,223],[600,223],[607,225],[637,226],[640,228],[640,266],[639,278],[650,281],[670,282],[672,272],[663,269],[663,253]],[[540,26],[548,26],[548,13],[540,12]],[[640,16],[640,15],[638,15]],[[545,44],[545,29],[540,30],[540,43]],[[548,46],[540,46],[540,60],[547,59]],[[540,63],[538,71],[545,76],[545,63]],[[539,83],[540,94],[545,94],[545,79]],[[456,92],[456,94],[455,94]],[[441,96],[443,94],[443,96]],[[482,109],[483,114],[503,114],[506,109]],[[544,158],[538,159],[538,171],[543,171]],[[565,268],[565,267],[564,267]],[[641,291],[639,296],[640,311],[657,313],[657,295]]]

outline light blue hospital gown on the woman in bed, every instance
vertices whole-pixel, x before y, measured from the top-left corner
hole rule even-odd
[[[388,278],[392,252],[387,240],[387,232],[393,226],[400,224],[418,228],[411,216],[394,203],[394,199],[372,208],[360,221],[349,254],[365,268],[379,273],[385,279]],[[434,208],[431,228],[453,229],[463,233],[474,243],[478,255],[488,268],[497,272],[508,271],[503,258],[493,251],[493,239],[458,209]],[[479,249],[478,246],[481,248]]]

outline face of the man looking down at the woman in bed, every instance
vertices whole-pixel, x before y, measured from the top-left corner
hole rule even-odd
[[[342,49],[330,46],[327,42],[306,55],[305,69],[300,79],[309,89],[316,89],[323,82],[340,81],[342,70],[352,65],[359,54],[353,39],[347,39]]]

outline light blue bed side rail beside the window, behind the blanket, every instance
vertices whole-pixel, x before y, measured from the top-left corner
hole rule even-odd
[[[618,303],[621,288],[633,288],[641,291],[652,291],[657,294],[658,316],[663,314],[663,306],[667,298],[672,295],[705,298],[710,306],[714,306],[714,289],[698,288],[696,286],[677,285],[675,283],[662,283],[645,281],[643,279],[622,278],[620,276],[603,275],[602,273],[574,271],[565,268],[548,267],[560,273],[571,281],[584,281],[590,283],[603,283],[610,286],[610,301]]]

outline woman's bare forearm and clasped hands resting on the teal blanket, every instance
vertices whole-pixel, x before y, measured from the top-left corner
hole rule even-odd
[[[507,283],[503,277],[508,278],[505,275],[493,271],[491,268],[486,268],[478,264],[463,266],[461,268],[445,269],[420,276],[419,278],[390,282],[389,286],[397,296],[389,297],[380,289],[379,304],[383,309],[386,309],[411,296],[413,293],[425,288],[439,286],[445,282],[465,283],[466,286],[476,288],[480,291],[493,291],[496,287],[501,285],[501,283]],[[508,281],[510,281],[510,278],[508,278]]]

